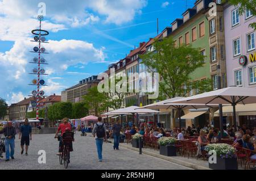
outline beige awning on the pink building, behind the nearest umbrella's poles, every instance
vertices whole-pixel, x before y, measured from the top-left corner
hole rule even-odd
[[[233,116],[233,107],[224,106],[222,107],[223,116]],[[250,116],[256,115],[256,104],[237,104],[236,115],[238,116]],[[219,111],[214,112],[214,116],[219,116]]]

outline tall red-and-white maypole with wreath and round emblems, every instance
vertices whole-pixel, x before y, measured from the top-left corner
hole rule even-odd
[[[44,91],[40,91],[40,86],[47,86],[47,85],[45,85],[46,82],[43,79],[40,79],[41,78],[40,75],[47,75],[47,74],[45,74],[46,71],[41,67],[41,64],[47,65],[46,60],[43,57],[41,57],[41,54],[43,54],[43,53],[48,54],[46,52],[46,49],[41,47],[41,43],[48,43],[48,42],[46,42],[45,36],[49,35],[48,31],[42,30],[42,28],[41,28],[43,16],[39,15],[38,20],[40,22],[39,29],[32,30],[32,34],[35,36],[34,36],[34,40],[31,40],[32,42],[38,43],[38,47],[34,47],[34,49],[33,49],[34,51],[31,51],[32,53],[38,53],[38,57],[35,57],[33,59],[33,61],[30,62],[31,64],[38,64],[38,68],[33,69],[32,73],[30,73],[30,74],[38,75],[37,79],[33,79],[32,84],[30,84],[33,86],[35,86],[35,85],[37,86],[37,90],[33,90],[32,95],[30,95],[30,96],[34,96],[34,97],[36,96],[36,102],[32,102],[32,107],[36,107],[36,120],[39,120],[40,97],[44,95]]]

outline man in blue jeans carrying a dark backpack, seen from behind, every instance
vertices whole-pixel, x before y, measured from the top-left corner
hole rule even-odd
[[[93,137],[95,137],[96,140],[96,146],[98,151],[98,161],[102,162],[102,145],[105,141],[108,142],[107,134],[106,134],[106,126],[104,123],[102,123],[102,117],[98,117],[98,123],[94,124],[93,131],[92,131]]]

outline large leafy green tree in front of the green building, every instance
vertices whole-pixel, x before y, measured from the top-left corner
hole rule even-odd
[[[172,37],[155,41],[154,47],[155,52],[140,57],[149,71],[157,71],[162,77],[159,81],[160,99],[185,96],[192,89],[199,93],[212,90],[210,79],[191,81],[191,73],[204,65],[205,56],[200,53],[200,48],[192,48],[191,45],[176,48]]]

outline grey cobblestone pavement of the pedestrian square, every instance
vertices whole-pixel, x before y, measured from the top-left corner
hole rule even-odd
[[[64,165],[59,165],[59,157],[56,151],[59,142],[53,138],[54,134],[34,134],[28,155],[20,154],[20,140],[16,136],[14,160],[5,162],[5,157],[0,158],[0,170],[6,169],[64,169]],[[74,151],[71,152],[71,163],[68,169],[189,169],[188,167],[176,165],[159,158],[149,155],[139,155],[137,151],[120,148],[121,150],[113,150],[113,145],[104,143],[103,162],[98,162],[97,151],[94,138],[90,136],[81,137],[80,132],[75,134],[75,142],[73,142]],[[46,164],[38,163],[38,151],[46,151]],[[5,154],[4,154],[5,156]]]

